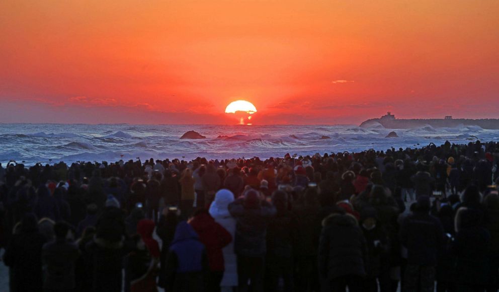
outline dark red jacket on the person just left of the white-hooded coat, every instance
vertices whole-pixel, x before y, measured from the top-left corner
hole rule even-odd
[[[222,248],[232,241],[230,233],[216,223],[208,211],[198,213],[189,224],[205,245],[210,270],[224,271]]]

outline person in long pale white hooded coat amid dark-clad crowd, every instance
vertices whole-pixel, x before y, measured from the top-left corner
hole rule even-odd
[[[221,189],[215,194],[215,200],[210,205],[210,215],[215,222],[220,224],[234,239],[235,237],[235,218],[232,217],[228,210],[228,205],[234,201],[234,195],[227,189]],[[222,292],[230,292],[233,287],[237,286],[237,258],[234,252],[234,241],[232,240],[222,250],[223,272],[222,281],[220,282]]]

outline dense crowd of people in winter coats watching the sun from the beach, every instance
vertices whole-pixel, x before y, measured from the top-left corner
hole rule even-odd
[[[0,165],[11,291],[497,291],[499,143]]]

